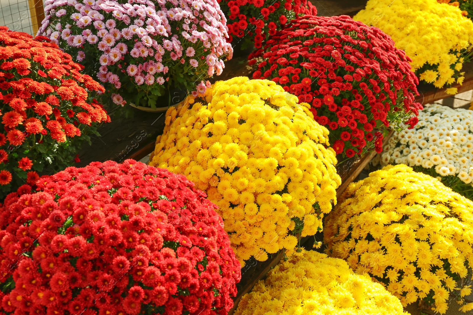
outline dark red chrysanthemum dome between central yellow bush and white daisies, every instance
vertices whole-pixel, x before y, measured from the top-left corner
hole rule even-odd
[[[414,126],[422,109],[409,58],[382,31],[348,16],[294,20],[248,58],[253,78],[311,103],[335,152],[349,158],[381,152],[382,131]]]

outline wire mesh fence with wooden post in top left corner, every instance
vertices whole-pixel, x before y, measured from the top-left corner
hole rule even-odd
[[[43,19],[43,0],[0,0],[0,26],[36,35]]]

